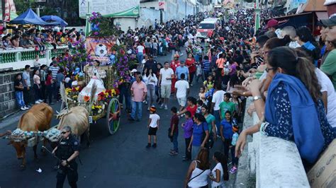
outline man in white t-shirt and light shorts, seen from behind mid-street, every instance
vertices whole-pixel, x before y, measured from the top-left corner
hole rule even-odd
[[[177,88],[177,102],[179,102],[179,112],[184,109],[186,105],[186,95],[189,93],[189,82],[185,81],[185,74],[181,74],[181,80],[175,83],[175,88]]]

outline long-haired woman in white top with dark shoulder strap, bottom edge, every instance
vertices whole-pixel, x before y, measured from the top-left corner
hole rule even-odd
[[[208,187],[210,172],[209,151],[207,148],[201,148],[196,159],[189,165],[184,187]]]

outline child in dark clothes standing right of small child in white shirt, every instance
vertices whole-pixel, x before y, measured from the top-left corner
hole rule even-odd
[[[179,116],[177,116],[177,107],[172,107],[172,119],[170,119],[169,136],[172,137],[174,149],[170,150],[169,155],[179,154],[177,136],[179,136]]]

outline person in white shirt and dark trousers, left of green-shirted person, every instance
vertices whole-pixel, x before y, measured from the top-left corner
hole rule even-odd
[[[215,85],[215,92],[213,93],[213,100],[211,101],[211,110],[213,110],[213,116],[215,116],[215,126],[217,127],[217,135],[220,135],[220,102],[224,100],[225,91],[222,90],[222,86]]]

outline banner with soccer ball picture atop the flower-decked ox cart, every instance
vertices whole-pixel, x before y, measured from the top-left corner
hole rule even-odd
[[[110,64],[114,45],[116,40],[113,37],[86,37],[86,54],[92,60],[100,61],[101,65]]]

